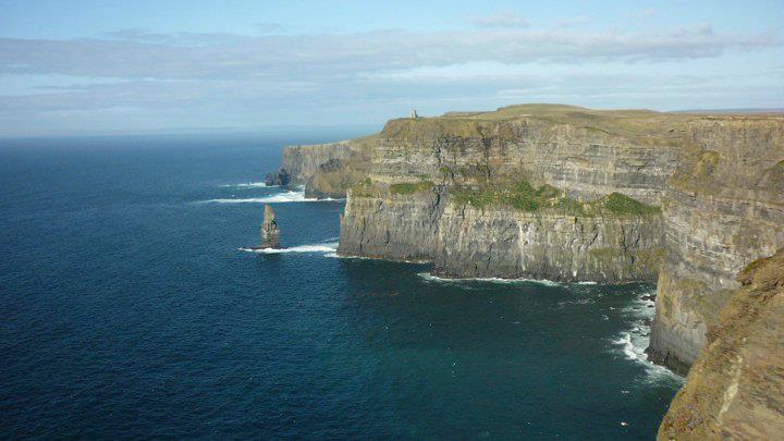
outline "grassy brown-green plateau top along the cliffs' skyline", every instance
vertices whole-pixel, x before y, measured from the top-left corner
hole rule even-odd
[[[593,110],[565,105],[518,105],[489,112],[448,112],[434,118],[390,120],[381,136],[388,138],[504,137],[514,135],[515,122],[540,121],[627,138],[666,142],[679,139],[685,124],[706,119],[777,120],[784,123],[783,114],[688,114],[645,109]]]

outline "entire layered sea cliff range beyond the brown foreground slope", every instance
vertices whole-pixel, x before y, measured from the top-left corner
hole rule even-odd
[[[284,151],[347,198],[339,254],[448,278],[658,281],[649,356],[685,372],[748,262],[784,246],[784,117],[527,105]]]

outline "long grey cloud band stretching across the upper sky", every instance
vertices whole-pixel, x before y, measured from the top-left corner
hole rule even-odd
[[[708,25],[667,33],[567,29],[264,35],[150,34],[105,39],[0,38],[0,73],[132,79],[334,81],[369,72],[467,62],[662,62],[780,46],[770,34],[718,34]]]

